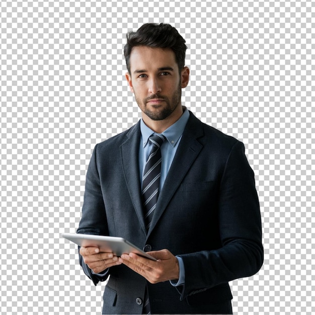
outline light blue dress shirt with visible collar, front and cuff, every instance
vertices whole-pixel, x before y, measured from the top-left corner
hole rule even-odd
[[[182,138],[185,126],[189,119],[189,112],[184,108],[184,113],[181,118],[176,121],[172,126],[162,132],[162,134],[167,138],[161,146],[161,155],[162,155],[162,164],[161,164],[161,178],[160,178],[160,192],[163,189],[165,179],[168,175],[170,167],[172,165],[176,150]],[[143,120],[140,121],[140,130],[141,130],[141,141],[139,147],[139,170],[140,170],[140,179],[142,181],[142,175],[145,167],[146,160],[150,154],[152,143],[149,141],[151,135],[156,134],[148,126],[145,125]],[[141,183],[142,184],[142,183]],[[173,286],[183,285],[185,283],[185,269],[183,260],[177,256],[179,268],[180,268],[180,277],[177,282],[170,281]]]

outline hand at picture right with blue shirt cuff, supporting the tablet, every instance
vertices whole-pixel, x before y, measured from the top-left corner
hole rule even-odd
[[[148,252],[157,261],[144,258],[134,253],[123,254],[119,262],[143,276],[150,283],[158,283],[179,278],[179,263],[168,250]]]

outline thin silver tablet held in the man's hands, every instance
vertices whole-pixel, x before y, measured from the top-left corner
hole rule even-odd
[[[82,247],[98,247],[101,251],[112,252],[115,256],[135,253],[156,260],[123,238],[77,233],[63,233],[62,237]]]

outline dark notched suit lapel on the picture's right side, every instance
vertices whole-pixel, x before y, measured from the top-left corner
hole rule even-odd
[[[197,140],[197,138],[202,135],[202,123],[190,113],[190,118],[185,127],[181,142],[177,148],[159,199],[157,200],[148,235],[159,221],[161,215],[202,149],[203,145]]]

